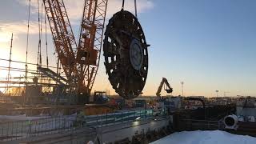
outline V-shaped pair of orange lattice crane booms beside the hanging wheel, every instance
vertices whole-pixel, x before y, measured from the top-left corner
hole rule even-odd
[[[63,0],[43,0],[58,58],[70,86],[90,94],[98,71],[108,0],[85,0],[78,44]]]

